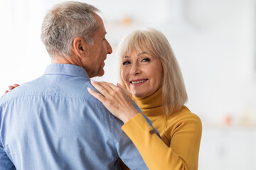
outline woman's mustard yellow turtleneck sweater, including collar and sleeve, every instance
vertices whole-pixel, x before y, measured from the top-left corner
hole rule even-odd
[[[202,124],[197,115],[183,106],[180,111],[163,115],[161,89],[147,98],[134,97],[159,131],[154,133],[142,114],[135,115],[122,126],[150,170],[198,169]]]

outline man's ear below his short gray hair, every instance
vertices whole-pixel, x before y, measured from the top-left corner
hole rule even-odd
[[[80,58],[85,57],[86,47],[87,47],[87,43],[83,38],[76,37],[75,40],[73,40],[73,52],[75,53],[75,55],[78,55],[78,57]]]

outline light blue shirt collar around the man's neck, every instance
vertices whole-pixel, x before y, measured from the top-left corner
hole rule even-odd
[[[89,79],[89,76],[85,71],[85,69],[73,64],[53,63],[48,65],[48,67],[46,67],[46,71],[43,74],[44,75],[59,74],[59,75],[73,76],[73,77],[85,77]]]

